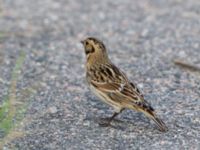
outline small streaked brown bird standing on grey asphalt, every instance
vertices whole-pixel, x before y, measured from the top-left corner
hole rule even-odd
[[[113,115],[99,124],[107,127],[123,110],[131,109],[153,120],[160,131],[168,131],[137,86],[111,62],[104,43],[95,37],[87,37],[81,43],[86,54],[86,80],[89,88],[100,100],[114,108]]]

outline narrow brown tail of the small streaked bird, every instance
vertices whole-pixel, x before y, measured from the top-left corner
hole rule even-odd
[[[165,123],[160,118],[158,118],[153,109],[141,108],[140,111],[143,112],[148,118],[152,119],[160,131],[168,131],[168,128],[165,125]]]

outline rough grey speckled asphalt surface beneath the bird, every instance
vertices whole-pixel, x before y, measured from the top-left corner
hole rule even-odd
[[[0,98],[9,89],[20,51],[26,53],[17,89],[39,85],[23,130],[4,149],[200,149],[199,0],[0,1]],[[88,89],[80,40],[103,40],[114,64],[137,83],[169,131],[126,110],[113,127],[98,119],[112,108]],[[26,99],[26,98],[25,98]]]

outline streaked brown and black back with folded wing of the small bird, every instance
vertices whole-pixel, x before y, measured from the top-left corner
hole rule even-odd
[[[129,82],[126,75],[113,64],[102,65],[99,69],[94,69],[90,83],[98,90],[112,93],[132,103],[143,103],[144,98],[139,89]],[[99,70],[99,71],[97,71]]]

